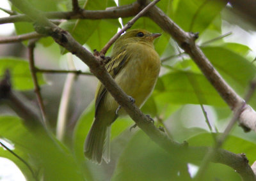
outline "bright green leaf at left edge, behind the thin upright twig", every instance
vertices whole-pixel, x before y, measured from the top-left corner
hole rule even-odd
[[[14,89],[21,91],[33,89],[34,84],[29,70],[29,64],[24,59],[2,57],[0,59],[0,72],[3,77],[4,71],[10,70],[11,81]],[[37,80],[40,85],[44,83],[41,73],[37,73]]]

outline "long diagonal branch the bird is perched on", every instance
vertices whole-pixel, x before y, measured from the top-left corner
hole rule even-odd
[[[33,13],[36,13],[35,10],[31,6],[19,6],[20,2],[24,3],[24,1],[13,0],[15,5],[17,5],[20,10],[27,13],[30,17],[34,17],[35,20],[38,20],[39,23],[42,19],[36,18]],[[127,94],[125,94],[118,85],[116,85],[113,78],[109,75],[109,73],[104,68],[104,63],[102,59],[99,57],[94,57],[92,53],[90,53],[86,48],[77,43],[74,38],[67,32],[52,24],[49,21],[43,20],[45,23],[45,33],[52,36],[52,38],[56,41],[56,43],[65,47],[69,52],[75,54],[77,57],[81,59],[84,63],[86,63],[92,73],[99,78],[100,82],[106,87],[108,92],[115,98],[122,108],[130,115],[130,117],[136,122],[136,124],[160,147],[167,150],[171,156],[177,156],[179,153],[184,157],[184,159],[188,161],[200,160],[207,153],[209,148],[207,147],[188,147],[187,144],[176,143],[173,140],[170,140],[166,134],[162,131],[159,131],[154,124],[151,123],[150,118],[143,115],[140,109],[131,103]],[[228,166],[234,168],[238,173],[240,173],[241,177],[247,180],[254,180],[255,175],[248,165],[248,162],[244,159],[243,156],[233,154],[232,152],[228,152],[227,150],[218,149],[214,154],[214,157],[211,159],[214,163],[223,163]]]

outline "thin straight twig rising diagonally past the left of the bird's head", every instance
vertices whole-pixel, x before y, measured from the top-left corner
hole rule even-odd
[[[100,55],[105,55],[106,52],[108,51],[108,48],[111,47],[111,45],[117,40],[117,38],[119,38],[119,36],[121,36],[122,33],[124,33],[127,29],[129,29],[136,22],[136,20],[138,20],[138,18],[143,16],[152,6],[154,6],[159,1],[160,0],[152,1],[147,6],[145,6],[145,8],[143,8],[143,10],[140,11],[140,13],[138,13],[134,18],[132,18],[129,22],[127,22],[127,24],[125,24],[124,27],[118,33],[116,33],[108,41],[108,43],[102,48],[102,50],[100,51]]]

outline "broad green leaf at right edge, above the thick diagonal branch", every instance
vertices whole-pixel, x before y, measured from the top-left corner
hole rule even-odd
[[[243,94],[244,88],[255,76],[255,66],[241,56],[241,52],[234,52],[239,47],[243,47],[245,50],[243,51],[246,52],[246,47],[234,44],[227,44],[227,47],[204,47],[202,50],[214,68],[232,85],[232,88]],[[231,47],[232,50],[230,50]]]

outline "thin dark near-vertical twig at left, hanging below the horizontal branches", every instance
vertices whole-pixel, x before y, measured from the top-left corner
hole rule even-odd
[[[37,101],[38,101],[38,105],[39,105],[41,113],[42,113],[43,124],[44,124],[44,126],[47,127],[47,119],[46,119],[46,114],[45,114],[44,103],[43,103],[42,95],[41,95],[41,92],[40,92],[40,86],[39,86],[38,80],[36,78],[34,49],[35,49],[35,41],[29,41],[29,45],[28,45],[29,68],[30,68],[31,76],[32,76],[33,83],[34,83],[34,86],[35,86],[35,93],[36,93],[36,98],[37,98]]]

